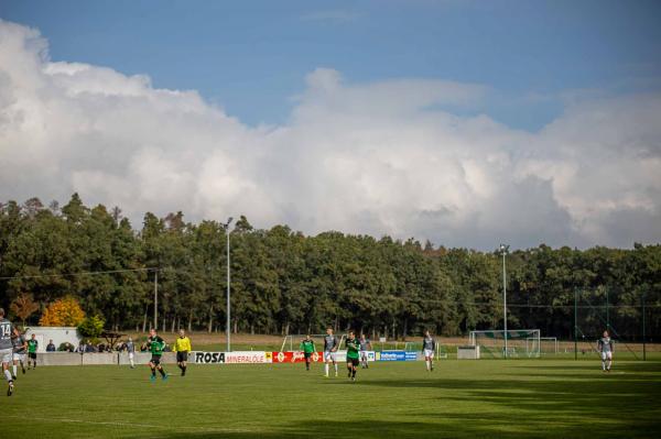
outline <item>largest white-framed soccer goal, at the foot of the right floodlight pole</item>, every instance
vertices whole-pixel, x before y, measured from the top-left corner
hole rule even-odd
[[[540,356],[539,329],[470,331],[468,337],[472,345],[479,345],[481,358],[500,359],[506,354],[507,358]]]

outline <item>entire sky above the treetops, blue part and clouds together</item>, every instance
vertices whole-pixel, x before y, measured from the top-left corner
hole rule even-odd
[[[661,241],[655,1],[0,3],[0,200]]]

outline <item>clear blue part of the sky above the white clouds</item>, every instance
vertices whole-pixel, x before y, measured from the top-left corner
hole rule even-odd
[[[661,88],[658,1],[11,1],[53,61],[195,89],[243,123],[282,123],[317,67],[348,83],[486,85],[465,113],[537,131],[567,94]]]

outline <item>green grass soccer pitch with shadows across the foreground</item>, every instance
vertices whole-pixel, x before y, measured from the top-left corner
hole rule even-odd
[[[51,366],[0,397],[2,438],[652,438],[661,361],[375,363],[350,383],[302,364]],[[167,366],[171,373],[178,372]]]

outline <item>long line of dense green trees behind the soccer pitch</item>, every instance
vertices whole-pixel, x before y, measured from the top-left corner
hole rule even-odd
[[[405,338],[502,327],[497,250],[335,231],[308,237],[286,226],[254,229],[245,217],[228,232],[234,332],[319,333],[332,326]],[[10,200],[0,204],[0,306],[29,296],[35,312],[26,322],[36,323],[48,304],[73,296],[108,329],[145,330],[158,275],[160,329],[223,331],[225,242],[220,222],[186,222],[181,211],[148,212],[134,229],[118,207],[90,208],[77,194],[63,207]],[[597,333],[606,318],[637,339],[644,300],[647,333],[661,333],[659,244],[540,244],[506,257],[510,328],[571,338],[578,298],[582,328]]]

